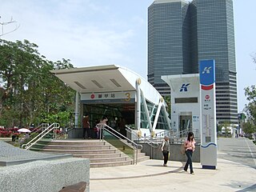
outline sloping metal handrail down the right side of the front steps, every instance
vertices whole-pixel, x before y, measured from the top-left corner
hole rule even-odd
[[[106,127],[107,127],[107,129],[106,129]],[[136,158],[135,158],[135,155],[134,155],[134,163],[137,164],[137,162],[138,162],[138,150],[142,150],[142,145],[139,145],[139,144],[137,144],[137,143],[131,141],[130,138],[126,138],[126,136],[120,134],[118,131],[114,130],[112,127],[107,126],[107,125],[104,124],[104,123],[98,123],[98,128],[100,129],[100,137],[102,137],[102,136],[101,136],[101,135],[102,135],[102,134],[101,134],[102,131],[103,131],[103,130],[106,130],[108,133],[113,134],[114,137],[118,138],[121,142],[125,143],[126,145],[127,145],[127,144],[129,145],[130,143],[124,142],[123,139],[126,139],[126,141],[131,142],[132,145],[129,145],[129,146],[132,147],[132,149],[134,150],[134,153],[135,153],[135,150],[136,150]],[[113,131],[114,133],[113,133],[112,131]],[[104,140],[103,137],[100,138],[100,139]],[[140,148],[139,148],[138,146],[139,146]]]

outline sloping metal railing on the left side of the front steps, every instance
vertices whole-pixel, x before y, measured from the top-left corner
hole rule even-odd
[[[36,142],[38,142],[39,140],[41,140],[44,136],[46,136],[46,134],[49,134],[50,131],[58,129],[59,128],[59,123],[53,123],[50,126],[48,126],[47,128],[45,128],[44,130],[42,130],[42,132],[40,134],[38,134],[36,137],[32,138],[30,140],[30,142],[27,142],[26,144],[22,145],[22,149],[30,149],[31,146],[34,146],[34,144]],[[54,136],[53,138],[56,139],[56,131],[54,131]]]

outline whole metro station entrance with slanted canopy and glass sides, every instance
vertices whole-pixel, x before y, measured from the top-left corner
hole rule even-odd
[[[109,65],[51,72],[77,91],[76,128],[88,114],[90,127],[94,128],[106,116],[107,125],[124,136],[126,126],[130,127],[130,133],[144,137],[156,137],[158,132],[167,133],[171,129],[167,105],[161,94],[132,70]],[[77,129],[79,131],[82,129]],[[78,138],[78,134],[74,138]]]

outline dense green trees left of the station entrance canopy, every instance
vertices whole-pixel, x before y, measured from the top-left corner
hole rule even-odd
[[[51,62],[37,49],[27,40],[0,39],[0,123],[4,126],[39,124],[46,120],[45,114],[70,114],[74,110],[74,90],[50,73],[72,68],[70,60]]]

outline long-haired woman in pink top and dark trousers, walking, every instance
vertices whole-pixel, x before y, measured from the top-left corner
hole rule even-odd
[[[188,166],[190,166],[190,174],[194,174],[194,170],[193,170],[193,166],[192,166],[192,154],[194,151],[194,146],[195,141],[194,141],[194,134],[193,132],[190,132],[187,135],[187,139],[184,142],[184,146],[186,148],[186,157],[187,157],[187,161],[186,161],[186,165],[184,166],[184,170],[187,171]]]

